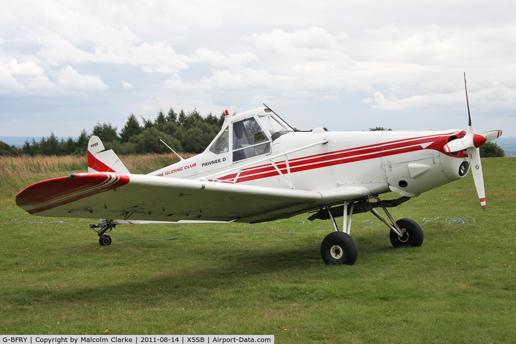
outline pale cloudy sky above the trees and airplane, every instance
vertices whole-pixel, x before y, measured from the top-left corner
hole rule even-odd
[[[516,137],[516,2],[0,2],[0,136],[265,103],[301,130]]]

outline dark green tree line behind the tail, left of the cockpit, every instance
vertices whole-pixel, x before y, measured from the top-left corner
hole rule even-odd
[[[211,112],[203,117],[197,109],[175,112],[172,107],[167,113],[160,110],[154,120],[141,118],[142,124],[131,113],[120,129],[111,123],[97,122],[90,134],[85,129],[74,140],[59,140],[52,132],[41,140],[26,140],[22,148],[9,146],[0,141],[0,155],[86,155],[90,136],[98,136],[106,149],[117,154],[167,153],[163,140],[176,152],[201,153],[220,132],[224,123],[224,112],[214,116]]]

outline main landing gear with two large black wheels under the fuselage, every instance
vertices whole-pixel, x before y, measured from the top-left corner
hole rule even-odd
[[[423,228],[419,223],[412,219],[399,219],[394,221],[391,214],[387,210],[388,207],[395,207],[403,202],[408,201],[409,197],[402,197],[396,200],[380,201],[378,196],[374,196],[377,202],[362,201],[345,201],[344,206],[336,206],[326,209],[320,209],[318,212],[309,217],[309,220],[331,219],[335,232],[328,234],[321,243],[321,257],[328,265],[353,265],[357,261],[358,246],[357,242],[349,235],[351,231],[351,218],[354,214],[370,211],[380,221],[390,228],[389,237],[394,247],[414,246],[420,247],[423,244],[424,234]],[[385,220],[375,208],[381,207],[390,221]],[[354,211],[353,211],[354,210]],[[348,215],[349,214],[349,215]],[[344,217],[344,226],[342,232],[338,230],[335,216]],[[347,222],[347,223],[346,223]]]

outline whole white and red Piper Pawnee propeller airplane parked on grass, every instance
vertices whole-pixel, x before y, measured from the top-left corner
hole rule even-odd
[[[90,224],[101,245],[111,244],[106,232],[118,224],[259,223],[313,211],[310,220],[330,219],[334,229],[322,240],[322,260],[352,265],[358,257],[350,236],[354,214],[372,212],[389,228],[394,247],[420,247],[422,226],[395,221],[388,208],[470,170],[486,208],[479,147],[502,131],[477,134],[467,87],[466,102],[466,130],[298,132],[265,104],[233,115],[225,110],[219,134],[203,153],[147,175],[130,173],[92,136],[88,173],[30,185],[16,202],[37,216],[104,219]],[[380,199],[390,191],[399,197]],[[343,217],[342,231],[336,217]]]

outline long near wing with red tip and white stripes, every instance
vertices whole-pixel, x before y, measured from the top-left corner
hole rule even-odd
[[[33,184],[17,204],[38,216],[144,221],[262,222],[367,190],[305,191],[123,173],[78,173]],[[326,202],[324,202],[326,203]]]

